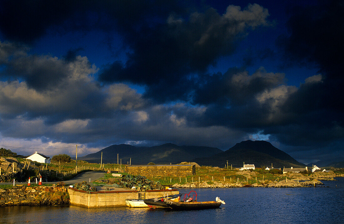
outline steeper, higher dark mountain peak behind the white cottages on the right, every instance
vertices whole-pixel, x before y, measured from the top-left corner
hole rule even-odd
[[[199,165],[224,167],[227,160],[228,164],[233,164],[234,167],[242,167],[244,163],[254,164],[255,167],[270,167],[271,163],[276,168],[305,166],[269,142],[250,140],[237,143],[225,152],[209,157],[196,158],[193,161]]]

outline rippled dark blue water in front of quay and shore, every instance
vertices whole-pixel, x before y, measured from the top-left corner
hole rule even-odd
[[[198,201],[226,202],[198,211],[77,206],[0,207],[0,223],[344,223],[344,178],[316,188],[180,189]],[[337,187],[336,187],[337,185]]]

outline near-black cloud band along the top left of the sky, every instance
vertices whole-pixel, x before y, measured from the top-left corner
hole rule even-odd
[[[0,3],[0,30],[11,41],[32,43],[46,34],[75,29],[104,29],[111,31],[117,24],[121,30],[132,32],[153,15],[178,11],[174,1],[11,1]]]

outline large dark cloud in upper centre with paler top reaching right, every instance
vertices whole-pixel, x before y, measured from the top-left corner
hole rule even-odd
[[[100,75],[103,81],[146,84],[146,96],[159,101],[186,99],[194,74],[204,72],[220,56],[229,55],[247,30],[267,25],[268,11],[257,4],[246,9],[230,5],[220,15],[213,8],[186,19],[170,14],[166,23],[135,33],[128,61],[116,61]],[[184,84],[184,85],[183,85]],[[164,90],[164,91],[162,91]],[[177,91],[175,91],[177,90]]]

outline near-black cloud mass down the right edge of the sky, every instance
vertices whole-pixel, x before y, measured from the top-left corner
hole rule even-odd
[[[322,75],[306,79],[281,106],[289,125],[267,130],[289,145],[329,144],[344,138],[343,1],[319,2],[289,11],[289,37],[281,37],[288,60],[316,63]],[[295,135],[297,138],[295,138]]]

